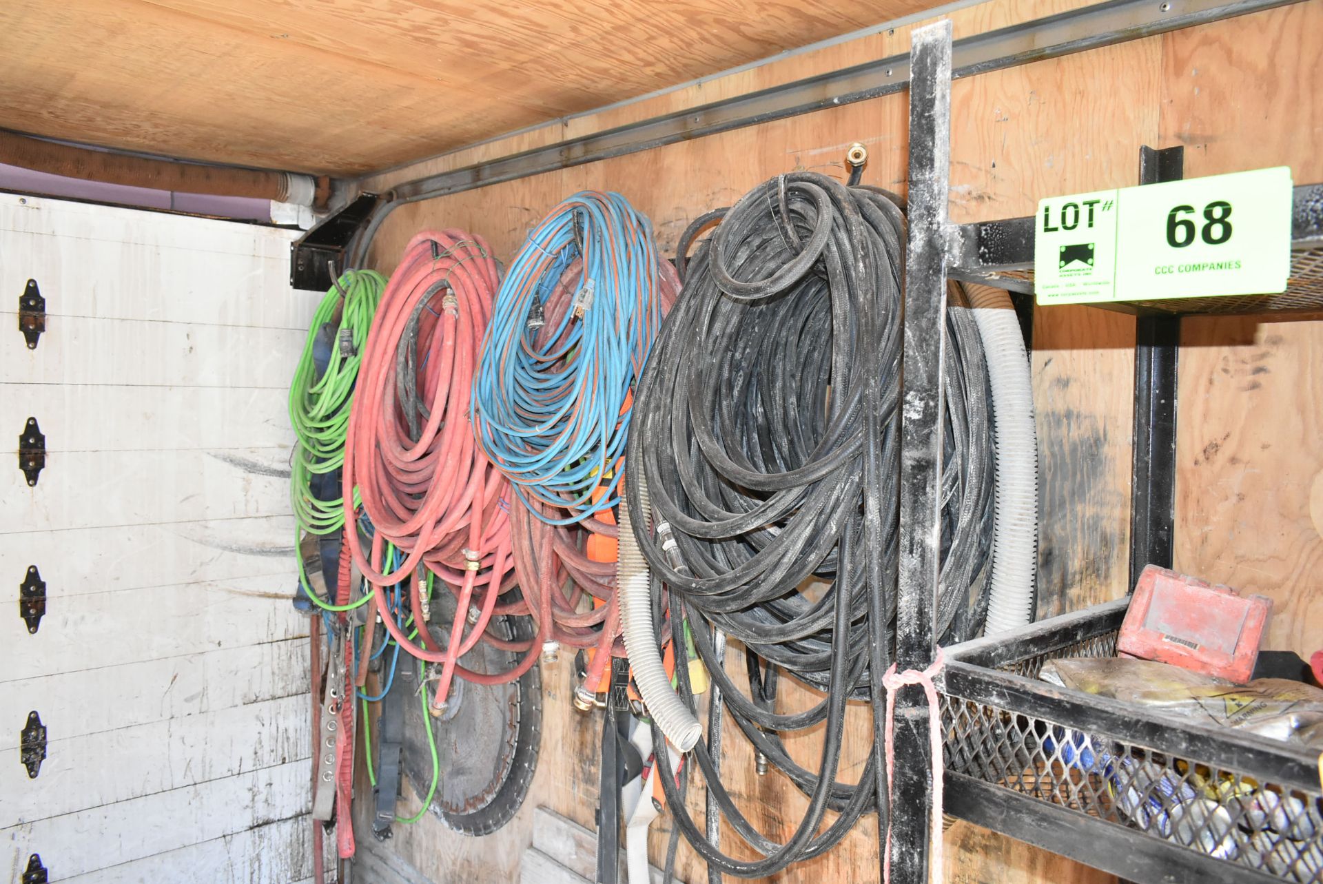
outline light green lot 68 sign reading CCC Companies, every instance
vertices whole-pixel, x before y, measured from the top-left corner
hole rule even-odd
[[[1040,304],[1285,291],[1291,171],[1041,200],[1033,258]]]

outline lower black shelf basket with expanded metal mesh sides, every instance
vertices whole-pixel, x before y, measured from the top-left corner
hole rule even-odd
[[[1129,599],[947,648],[947,810],[1136,880],[1323,884],[1315,753],[1037,680]]]

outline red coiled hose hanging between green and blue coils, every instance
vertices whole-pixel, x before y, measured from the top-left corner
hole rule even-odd
[[[418,659],[442,663],[438,708],[456,674],[504,683],[537,659],[525,643],[512,648],[528,654],[509,672],[472,672],[458,663],[484,638],[495,614],[527,613],[517,598],[500,601],[513,585],[508,483],[475,445],[468,420],[479,343],[497,285],[496,262],[482,238],[459,230],[415,236],[382,295],[349,414],[344,487],[360,490],[372,545],[365,551],[360,533],[349,531],[348,547],[390,638]],[[348,495],[344,500],[352,520]],[[384,558],[388,547],[404,560]],[[389,613],[386,588],[406,577],[409,610],[427,611],[427,574],[458,597],[445,648],[410,641]],[[509,648],[495,635],[486,638]]]

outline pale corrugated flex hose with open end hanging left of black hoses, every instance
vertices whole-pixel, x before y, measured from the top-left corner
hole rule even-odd
[[[631,480],[639,483],[639,502],[643,504],[640,509],[651,512],[643,470],[638,471],[636,479],[631,476]],[[634,537],[628,507],[620,507],[620,553],[615,573],[624,650],[630,654],[630,666],[634,668],[639,695],[665,738],[680,752],[688,752],[703,736],[703,725],[693,717],[667,678],[652,622],[652,574],[643,551],[639,549],[639,541]],[[679,617],[680,611],[671,611],[671,615]],[[684,648],[676,650],[676,660],[683,660]]]

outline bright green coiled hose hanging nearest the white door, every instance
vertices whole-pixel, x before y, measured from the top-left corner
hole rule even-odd
[[[385,278],[374,270],[343,274],[318,306],[303,355],[294,369],[290,423],[296,441],[290,461],[290,502],[299,536],[303,532],[335,535],[344,527],[344,500],[323,494],[329,488],[333,494],[340,491],[335,472],[344,463],[355,380],[385,285]],[[299,581],[308,598],[323,607],[333,607],[308,585],[302,556]]]

